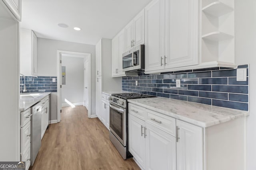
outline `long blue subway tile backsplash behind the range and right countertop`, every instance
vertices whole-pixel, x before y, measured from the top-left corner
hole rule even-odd
[[[246,81],[236,81],[237,69],[214,67],[122,77],[122,90],[248,111],[248,65],[238,68],[247,68]]]

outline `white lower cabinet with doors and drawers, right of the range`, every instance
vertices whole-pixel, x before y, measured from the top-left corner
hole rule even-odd
[[[203,170],[201,127],[133,104],[128,117],[129,151],[140,168]]]

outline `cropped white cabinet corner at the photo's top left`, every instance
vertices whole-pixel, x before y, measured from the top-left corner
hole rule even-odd
[[[14,17],[21,21],[21,0],[2,0],[9,8]]]

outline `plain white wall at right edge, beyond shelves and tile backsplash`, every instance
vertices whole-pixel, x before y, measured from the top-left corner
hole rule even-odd
[[[236,63],[250,64],[250,116],[247,117],[246,170],[256,170],[256,1],[235,0]]]

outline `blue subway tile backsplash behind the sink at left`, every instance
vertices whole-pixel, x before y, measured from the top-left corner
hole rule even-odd
[[[55,78],[55,82],[52,79]],[[20,84],[24,83],[24,78],[20,77]],[[54,76],[25,76],[26,92],[22,93],[34,93],[34,92],[57,92],[57,77]],[[20,90],[23,90],[24,86],[20,85]]]

